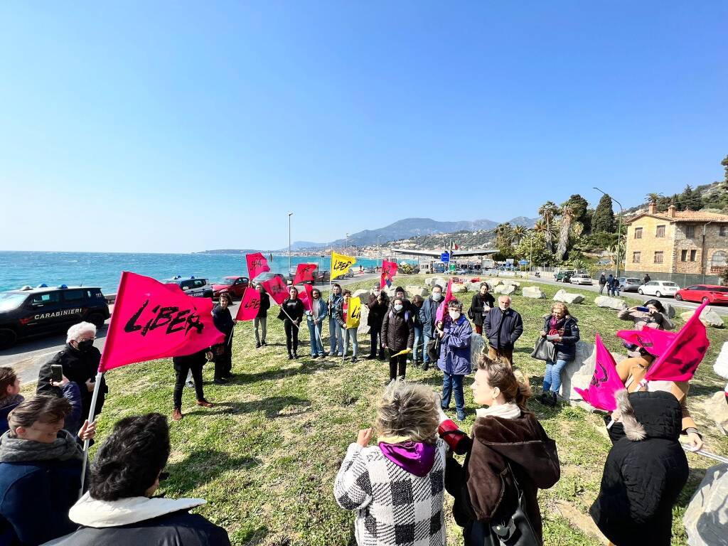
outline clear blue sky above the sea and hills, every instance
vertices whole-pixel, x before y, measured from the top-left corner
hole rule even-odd
[[[4,2],[0,250],[328,241],[722,177],[724,1]],[[477,191],[480,189],[480,198]]]

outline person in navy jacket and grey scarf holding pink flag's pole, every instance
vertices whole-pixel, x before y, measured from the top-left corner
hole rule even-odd
[[[78,526],[68,510],[79,498],[84,453],[96,425],[85,422],[74,436],[65,430],[71,413],[65,398],[35,396],[8,416],[0,437],[0,544],[39,545]]]

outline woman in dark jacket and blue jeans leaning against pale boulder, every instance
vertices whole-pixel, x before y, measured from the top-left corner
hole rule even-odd
[[[557,302],[551,306],[551,313],[544,317],[541,337],[551,336],[555,347],[555,362],[546,361],[543,392],[536,399],[550,408],[556,407],[556,395],[561,388],[561,371],[577,355],[579,325],[569,314],[566,304]]]

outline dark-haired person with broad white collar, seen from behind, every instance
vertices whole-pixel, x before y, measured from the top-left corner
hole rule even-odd
[[[79,529],[54,546],[230,546],[227,531],[191,508],[204,499],[154,497],[170,456],[170,430],[162,414],[122,419],[98,449],[89,489],[71,507]]]

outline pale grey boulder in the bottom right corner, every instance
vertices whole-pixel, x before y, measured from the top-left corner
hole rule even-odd
[[[690,546],[728,545],[728,464],[716,464],[705,471],[683,523]]]

